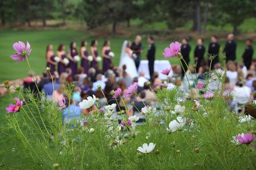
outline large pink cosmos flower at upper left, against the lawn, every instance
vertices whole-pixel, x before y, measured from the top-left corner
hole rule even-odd
[[[16,53],[11,55],[11,58],[14,60],[18,60],[17,62],[23,61],[25,58],[30,56],[32,50],[28,41],[27,46],[22,41],[15,42],[13,44],[13,49],[16,51]]]

